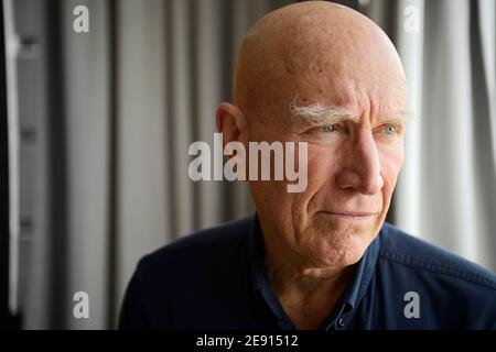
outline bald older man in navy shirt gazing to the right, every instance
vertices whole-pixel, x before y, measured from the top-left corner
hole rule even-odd
[[[366,16],[319,1],[263,16],[216,122],[225,144],[305,143],[306,188],[249,180],[252,217],[142,258],[120,328],[496,328],[493,273],[385,222],[407,117],[400,58]]]

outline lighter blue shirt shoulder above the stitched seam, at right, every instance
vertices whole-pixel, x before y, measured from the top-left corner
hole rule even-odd
[[[486,288],[488,294],[496,295],[495,273],[390,223],[385,223],[380,233],[379,261],[400,266],[402,272],[442,277],[453,284]]]

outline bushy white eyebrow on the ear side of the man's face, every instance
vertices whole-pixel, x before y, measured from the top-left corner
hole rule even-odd
[[[310,123],[337,123],[342,120],[358,121],[358,118],[352,110],[343,108],[327,108],[321,105],[296,106],[290,105],[291,116],[302,118]]]

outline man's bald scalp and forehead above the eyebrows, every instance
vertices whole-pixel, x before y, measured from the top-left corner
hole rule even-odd
[[[406,94],[388,36],[349,8],[301,2],[270,12],[248,32],[236,64],[234,102],[248,116],[273,114],[309,89],[312,100],[349,103],[347,90],[356,86]]]

